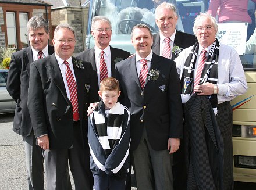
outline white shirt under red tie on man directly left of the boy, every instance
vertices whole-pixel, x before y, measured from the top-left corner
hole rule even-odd
[[[62,78],[63,78],[65,89],[66,89],[66,92],[67,92],[67,98],[69,98],[69,100],[70,100],[69,87],[67,86],[67,80],[66,80],[66,65],[63,63],[64,60],[61,59],[58,55],[56,55],[56,53],[55,53],[55,57],[56,57],[57,62],[59,64],[59,69],[61,69]],[[72,58],[70,57],[66,61],[69,62],[69,67],[72,71],[74,80],[76,81],[76,76],[74,75],[74,67],[73,67],[73,64],[72,64]]]

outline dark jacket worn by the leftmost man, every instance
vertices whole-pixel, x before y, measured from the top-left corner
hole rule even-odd
[[[48,53],[54,53],[54,47],[48,45]],[[22,136],[32,131],[29,110],[27,109],[27,89],[29,88],[30,63],[33,62],[31,46],[12,54],[8,72],[7,91],[17,102],[13,119],[13,131]]]

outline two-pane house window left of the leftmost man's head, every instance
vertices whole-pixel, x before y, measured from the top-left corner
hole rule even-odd
[[[15,12],[6,12],[8,46],[15,49],[27,48],[29,45],[27,38],[28,15],[22,12],[18,14],[19,17],[17,17]],[[20,44],[19,47],[17,43]]]

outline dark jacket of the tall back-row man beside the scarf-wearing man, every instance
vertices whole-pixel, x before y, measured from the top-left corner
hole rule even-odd
[[[174,38],[174,44],[173,46],[178,46],[180,48],[188,48],[189,46],[192,46],[197,41],[197,38],[195,38],[192,34],[183,33],[181,31],[176,30],[175,38]],[[152,45],[152,51],[160,55],[160,35],[159,33],[153,35],[153,45]],[[172,60],[174,60],[177,56],[175,53],[172,52]]]

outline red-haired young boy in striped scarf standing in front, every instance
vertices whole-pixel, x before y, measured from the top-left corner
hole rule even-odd
[[[95,190],[125,189],[130,165],[130,112],[118,102],[120,93],[118,80],[102,80],[98,92],[101,101],[88,122]]]

